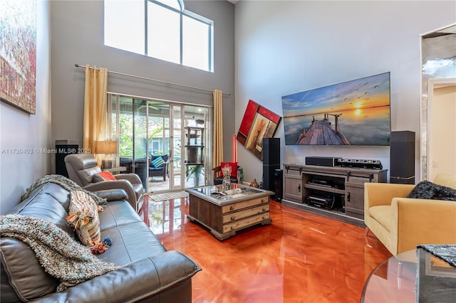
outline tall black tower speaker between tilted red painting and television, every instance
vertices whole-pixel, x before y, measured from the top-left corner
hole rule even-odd
[[[263,188],[274,191],[274,174],[280,169],[280,138],[263,138]]]

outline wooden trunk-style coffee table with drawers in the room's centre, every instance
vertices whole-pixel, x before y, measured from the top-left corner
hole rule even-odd
[[[187,217],[209,228],[218,240],[235,235],[237,230],[272,222],[269,217],[272,191],[241,184],[232,184],[232,189],[239,192],[224,196],[220,193],[221,186],[187,189],[190,194]]]

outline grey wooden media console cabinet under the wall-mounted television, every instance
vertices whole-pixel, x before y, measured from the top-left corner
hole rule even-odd
[[[364,184],[385,183],[387,169],[284,164],[282,204],[364,225]]]

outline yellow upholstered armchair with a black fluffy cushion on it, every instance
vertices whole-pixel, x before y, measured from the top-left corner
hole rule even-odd
[[[438,174],[434,184],[456,189],[456,176]],[[420,244],[456,244],[456,201],[405,198],[413,184],[364,184],[364,223],[393,254]]]

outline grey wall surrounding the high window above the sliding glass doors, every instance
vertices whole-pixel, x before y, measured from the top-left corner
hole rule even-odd
[[[214,73],[104,46],[103,1],[51,1],[53,141],[83,142],[84,70],[96,65],[119,73],[178,83],[224,95],[224,154],[231,158],[234,133],[234,5],[185,1],[185,8],[214,21]],[[212,92],[182,90],[108,73],[108,91],[198,105],[213,104]]]

